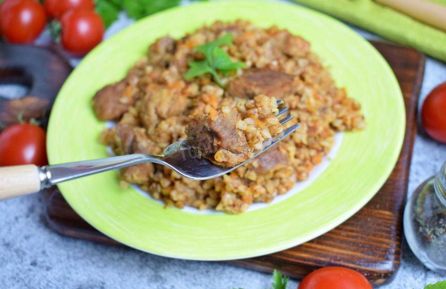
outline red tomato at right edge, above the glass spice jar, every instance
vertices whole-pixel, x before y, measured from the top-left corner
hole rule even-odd
[[[430,92],[423,103],[421,120],[427,134],[446,143],[446,82]]]

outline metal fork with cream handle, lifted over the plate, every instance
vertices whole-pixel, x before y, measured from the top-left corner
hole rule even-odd
[[[278,101],[277,105],[282,103],[282,101]],[[283,107],[276,115],[284,114],[287,110],[287,107]],[[288,115],[279,122],[283,125],[292,118],[292,115]],[[282,133],[264,141],[262,149],[254,151],[254,156],[251,159],[235,167],[220,167],[208,159],[198,157],[198,151],[185,140],[169,145],[163,155],[132,154],[43,167],[32,164],[0,167],[0,199],[35,193],[57,183],[146,162],[159,163],[189,179],[211,179],[227,174],[250,162],[258,155],[268,151],[299,126],[299,124],[294,124]]]

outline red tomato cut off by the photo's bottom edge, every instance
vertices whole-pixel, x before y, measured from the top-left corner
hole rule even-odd
[[[324,267],[308,274],[298,289],[372,289],[359,272],[345,267]]]

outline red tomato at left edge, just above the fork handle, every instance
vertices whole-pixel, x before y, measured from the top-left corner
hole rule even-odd
[[[8,126],[0,134],[0,166],[48,164],[45,137],[40,126],[29,123]]]

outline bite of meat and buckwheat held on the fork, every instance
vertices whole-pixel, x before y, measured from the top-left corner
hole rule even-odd
[[[235,167],[261,150],[262,142],[283,131],[278,111],[276,98],[260,94],[190,116],[186,134],[201,156],[222,167]]]

